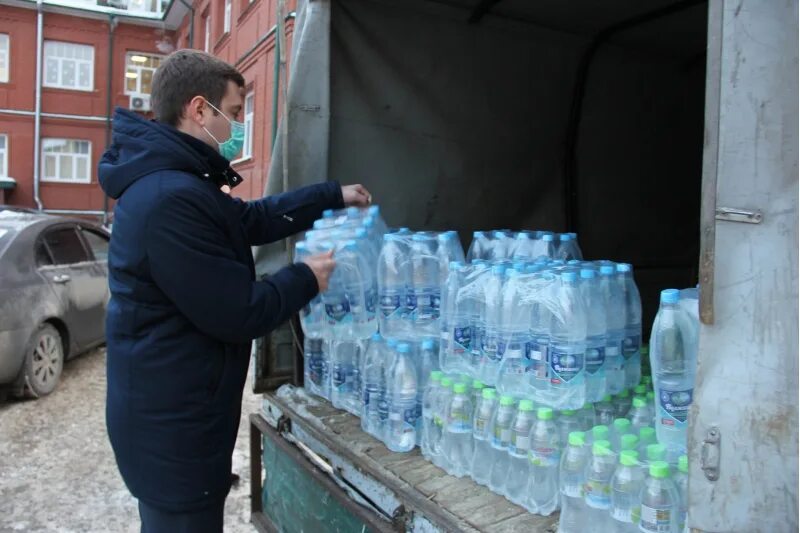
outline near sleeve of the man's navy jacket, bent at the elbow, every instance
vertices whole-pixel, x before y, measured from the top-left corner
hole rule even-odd
[[[222,342],[249,342],[311,301],[317,281],[304,264],[253,281],[218,225],[215,208],[202,191],[191,189],[159,199],[145,233],[150,275],[197,329]]]

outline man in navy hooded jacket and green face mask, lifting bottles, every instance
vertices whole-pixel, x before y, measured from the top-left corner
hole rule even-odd
[[[117,200],[109,253],[106,421],[142,531],[221,531],[251,341],[319,290],[315,256],[255,280],[251,246],[308,229],[322,211],[369,204],[335,182],[243,202],[229,160],[244,79],[194,50],[156,71],[156,121],[118,109],[100,183]]]

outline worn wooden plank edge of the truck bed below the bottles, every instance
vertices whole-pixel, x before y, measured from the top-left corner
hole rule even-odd
[[[443,529],[474,528],[491,533],[556,531],[558,513],[549,517],[532,515],[470,478],[447,474],[423,458],[418,448],[409,453],[392,452],[364,433],[357,417],[334,409],[321,398],[309,397],[302,389],[281,389],[268,397],[292,423],[301,424]]]

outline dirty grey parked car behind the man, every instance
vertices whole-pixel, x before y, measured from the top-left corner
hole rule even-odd
[[[105,342],[108,242],[90,222],[0,210],[0,389],[47,395]]]

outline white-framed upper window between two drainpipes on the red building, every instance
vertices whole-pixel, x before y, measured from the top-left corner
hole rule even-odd
[[[45,41],[44,86],[77,91],[94,89],[94,47]]]

